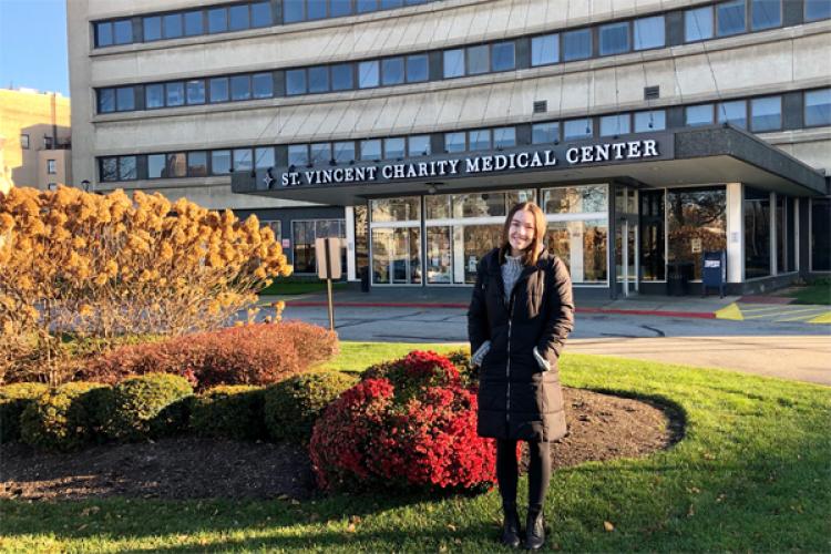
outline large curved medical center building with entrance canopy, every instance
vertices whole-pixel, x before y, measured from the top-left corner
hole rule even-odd
[[[79,177],[256,213],[298,274],[334,235],[350,280],[470,286],[523,199],[578,295],[831,271],[831,0],[68,12]]]

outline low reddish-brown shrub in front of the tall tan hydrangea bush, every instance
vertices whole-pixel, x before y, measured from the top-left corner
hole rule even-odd
[[[116,383],[152,372],[186,378],[197,391],[218,384],[271,384],[338,352],[335,332],[301,321],[246,325],[131,345],[91,359],[80,377]]]

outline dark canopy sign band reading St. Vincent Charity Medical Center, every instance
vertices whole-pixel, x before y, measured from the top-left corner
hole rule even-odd
[[[397,181],[434,181],[497,173],[608,165],[644,160],[666,160],[671,138],[613,141],[595,144],[553,146],[545,150],[512,148],[466,156],[430,156],[380,164],[295,168],[284,172],[269,168],[257,175],[258,189],[281,187],[394,183]]]

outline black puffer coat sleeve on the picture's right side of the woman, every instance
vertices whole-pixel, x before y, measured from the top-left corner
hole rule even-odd
[[[548,283],[544,301],[548,305],[548,319],[536,345],[540,353],[550,362],[560,358],[568,334],[574,329],[574,299],[572,297],[572,278],[565,264],[554,258],[548,271]]]

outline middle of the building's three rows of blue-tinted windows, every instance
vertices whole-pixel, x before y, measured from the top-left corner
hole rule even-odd
[[[823,13],[827,12],[822,11],[825,4],[829,7],[827,17],[831,17],[831,0],[824,0],[824,3],[818,1],[806,3],[806,14],[813,18],[825,17]],[[245,4],[242,8],[250,8],[253,13],[256,6],[258,4]],[[228,10],[235,8],[240,7],[232,7]],[[163,20],[168,17],[172,16],[165,16]],[[782,0],[730,0],[687,10],[685,11],[685,40],[699,41],[746,32],[748,18],[752,31],[781,25]],[[597,55],[620,54],[632,50],[666,45],[665,17],[655,16],[534,37],[531,39],[530,64],[536,66],[591,58],[594,54],[593,32],[595,30]],[[431,79],[430,61],[429,53],[416,53],[361,62],[290,69],[285,71],[283,90],[277,90],[275,86],[281,73],[271,71],[153,83],[144,85],[143,105],[136,102],[136,89],[133,86],[99,89],[98,111],[111,113],[151,110],[419,83]],[[515,40],[444,50],[433,61],[441,64],[440,71],[433,73],[441,75],[442,79],[511,71],[517,66],[527,65],[527,63],[517,62]]]

